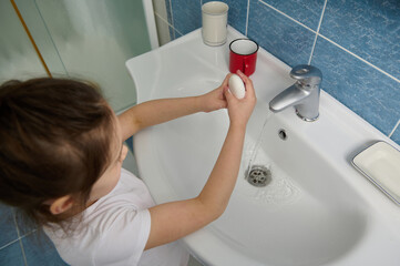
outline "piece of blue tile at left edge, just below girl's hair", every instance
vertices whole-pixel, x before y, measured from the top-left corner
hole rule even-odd
[[[2,247],[16,241],[18,234],[11,207],[0,204],[0,247]]]

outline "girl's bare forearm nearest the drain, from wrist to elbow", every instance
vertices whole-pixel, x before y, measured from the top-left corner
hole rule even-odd
[[[230,124],[218,160],[198,200],[212,219],[222,215],[229,202],[240,167],[246,127]]]

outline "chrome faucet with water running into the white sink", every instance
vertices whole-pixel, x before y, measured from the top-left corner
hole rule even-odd
[[[319,84],[322,73],[308,64],[296,65],[290,71],[296,83],[287,88],[269,102],[269,109],[278,113],[289,106],[295,106],[296,114],[304,121],[316,121],[319,115]]]

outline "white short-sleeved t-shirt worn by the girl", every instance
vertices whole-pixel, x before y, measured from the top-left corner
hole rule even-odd
[[[114,190],[82,214],[68,235],[44,227],[62,259],[70,265],[185,266],[187,250],[178,243],[143,250],[148,238],[154,202],[145,184],[126,170]]]

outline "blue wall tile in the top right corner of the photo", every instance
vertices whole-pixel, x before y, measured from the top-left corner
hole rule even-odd
[[[400,1],[328,1],[320,33],[400,79]]]

